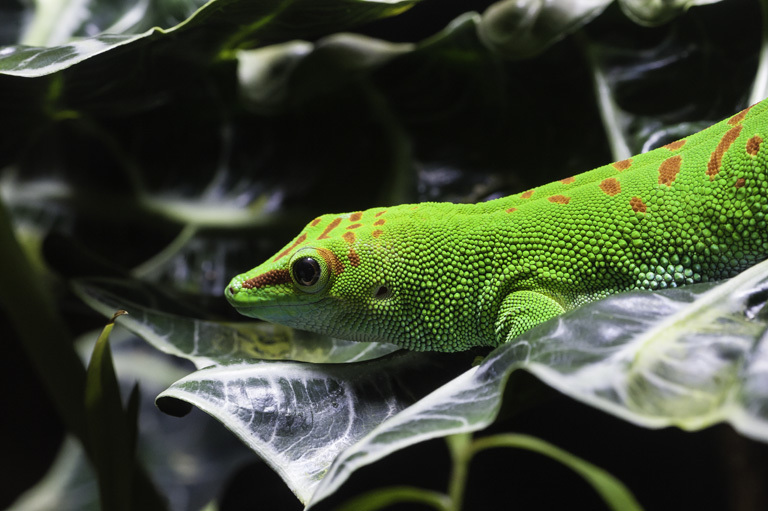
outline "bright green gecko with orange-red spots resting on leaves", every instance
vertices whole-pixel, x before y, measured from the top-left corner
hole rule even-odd
[[[227,286],[247,316],[411,350],[497,346],[632,289],[768,257],[768,100],[645,154],[478,204],[312,220]]]

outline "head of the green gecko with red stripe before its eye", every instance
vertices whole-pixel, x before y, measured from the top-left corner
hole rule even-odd
[[[274,257],[233,278],[227,300],[246,316],[350,340],[384,340],[376,318],[394,307],[396,296],[387,265],[374,257],[382,252],[380,234],[365,236],[360,218],[314,220]]]

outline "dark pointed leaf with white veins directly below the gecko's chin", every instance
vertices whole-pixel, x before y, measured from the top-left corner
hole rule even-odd
[[[184,413],[181,400],[216,417],[306,502],[340,452],[470,361],[465,356],[439,363],[446,359],[399,352],[356,364],[264,361],[211,367],[174,383],[157,397],[157,405]],[[421,378],[427,372],[430,379]]]

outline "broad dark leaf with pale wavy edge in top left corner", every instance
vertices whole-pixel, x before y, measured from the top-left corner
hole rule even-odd
[[[165,46],[163,51],[180,50],[184,45],[190,51],[191,45],[208,59],[215,55],[226,58],[229,52],[238,48],[311,37],[393,16],[417,1],[350,0],[340,6],[332,0],[210,0],[189,18],[167,29],[152,28],[140,34],[100,34],[51,47],[6,46],[0,49],[0,74],[28,78],[45,76],[121,46],[129,45],[129,50],[135,51],[160,40],[170,42],[170,47]],[[145,16],[149,15],[145,13]],[[38,30],[46,31],[45,28]],[[31,39],[48,38],[34,36]],[[54,38],[58,39],[61,38]]]

